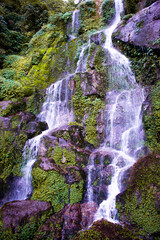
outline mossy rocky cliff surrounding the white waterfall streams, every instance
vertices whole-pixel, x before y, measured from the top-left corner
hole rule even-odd
[[[88,162],[106,137],[112,60],[103,28],[114,18],[114,2],[0,3],[0,239],[159,239],[159,9],[159,0],[125,0],[113,34],[115,47],[130,59],[147,95],[141,110],[145,147],[143,157],[125,173],[117,196],[123,224],[101,220],[85,230],[106,199],[113,175],[112,154],[95,154],[94,199],[88,202]],[[73,10],[79,12],[75,32]],[[46,88],[67,74],[74,120],[43,136],[32,169],[32,195],[7,203],[22,175],[26,141],[48,129],[39,118]],[[65,98],[64,87],[59,101]]]

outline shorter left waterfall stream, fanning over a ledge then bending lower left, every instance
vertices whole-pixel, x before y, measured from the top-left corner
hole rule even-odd
[[[41,139],[48,135],[53,129],[67,125],[73,121],[73,111],[70,108],[69,101],[72,98],[73,87],[71,86],[73,75],[68,75],[52,84],[46,90],[46,101],[43,103],[42,111],[38,118],[40,121],[46,121],[49,129],[40,135],[29,139],[23,149],[24,166],[21,169],[22,177],[12,183],[12,189],[1,203],[14,200],[25,200],[32,194],[32,167],[37,160]]]

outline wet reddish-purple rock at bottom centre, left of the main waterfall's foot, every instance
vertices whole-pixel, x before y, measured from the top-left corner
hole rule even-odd
[[[86,229],[92,224],[97,208],[94,202],[68,204],[51,216],[42,225],[40,232],[47,232],[51,239],[54,236],[54,239],[69,240],[79,230]],[[43,236],[39,234],[38,239],[43,239]]]

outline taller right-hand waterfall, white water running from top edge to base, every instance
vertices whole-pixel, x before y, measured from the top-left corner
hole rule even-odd
[[[107,199],[102,201],[95,214],[94,221],[102,218],[118,223],[116,196],[122,190],[122,180],[126,171],[143,154],[144,131],[142,124],[142,103],[144,90],[137,85],[130,69],[129,60],[113,47],[112,33],[120,21],[123,11],[122,0],[115,0],[115,18],[104,30],[106,41],[104,48],[111,59],[109,69],[109,89],[106,94],[106,137],[104,143],[92,153],[88,165],[88,201],[94,201],[93,169],[94,155],[98,152],[112,156],[110,167],[113,169],[111,184],[106,192]]]

